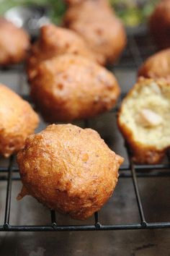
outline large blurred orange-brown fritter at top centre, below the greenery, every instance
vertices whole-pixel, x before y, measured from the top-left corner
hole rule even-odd
[[[86,40],[100,64],[114,62],[125,48],[125,29],[107,1],[74,4],[68,8],[64,24]]]

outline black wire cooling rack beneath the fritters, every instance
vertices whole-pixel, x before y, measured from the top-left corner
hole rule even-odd
[[[145,46],[145,47],[143,47]],[[128,36],[128,46],[122,56],[122,59],[115,65],[115,69],[136,68],[147,56],[153,54],[155,48],[151,43],[150,38],[145,33],[138,33],[137,36],[130,34]],[[111,67],[112,68],[112,67]],[[3,69],[4,72],[20,72],[22,74],[23,67],[15,66],[8,69]],[[23,98],[29,100],[29,96],[22,95]],[[112,110],[115,114],[117,108]],[[84,126],[88,126],[88,121],[84,121]],[[0,231],[109,231],[109,230],[128,230],[128,229],[167,229],[170,228],[170,221],[168,222],[151,222],[147,221],[143,203],[141,200],[140,189],[138,186],[138,179],[140,178],[160,178],[170,177],[170,158],[167,155],[166,164],[158,165],[136,165],[131,158],[128,145],[125,144],[125,150],[128,155],[128,164],[120,167],[119,179],[132,179],[136,205],[138,206],[138,215],[140,221],[138,223],[112,223],[105,225],[100,221],[99,213],[94,213],[94,223],[90,225],[58,225],[56,221],[55,211],[50,210],[51,224],[48,226],[13,226],[10,224],[11,198],[12,198],[12,182],[19,180],[19,170],[14,166],[14,155],[8,160],[7,167],[0,163],[0,181],[6,182],[6,204],[4,211],[4,223],[0,223]],[[104,206],[105,207],[105,206]],[[1,214],[1,213],[0,213]]]

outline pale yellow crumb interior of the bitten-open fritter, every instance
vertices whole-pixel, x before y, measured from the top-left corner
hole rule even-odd
[[[122,103],[120,123],[133,132],[135,142],[162,150],[170,145],[170,87],[150,82],[138,85]]]

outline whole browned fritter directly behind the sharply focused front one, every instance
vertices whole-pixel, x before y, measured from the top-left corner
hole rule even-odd
[[[96,116],[111,109],[119,95],[111,72],[70,54],[42,61],[31,83],[32,99],[50,123]]]

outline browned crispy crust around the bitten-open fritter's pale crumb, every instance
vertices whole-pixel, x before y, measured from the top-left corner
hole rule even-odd
[[[134,97],[133,93],[135,91],[138,92],[139,87],[147,86],[151,82],[155,82],[155,81],[158,83],[160,88],[161,87],[164,88],[167,86],[169,87],[169,90],[170,90],[170,84],[169,82],[166,82],[166,80],[153,80],[153,79],[145,79],[143,77],[140,77],[136,85],[130,90],[128,95],[122,101],[120,111],[118,112],[117,125],[120,129],[120,132],[122,132],[122,135],[125,137],[125,140],[128,142],[128,145],[130,146],[130,149],[131,149],[131,153],[133,155],[133,161],[136,163],[149,163],[149,164],[160,163],[161,160],[164,158],[166,150],[170,147],[169,145],[165,148],[161,148],[161,150],[158,150],[158,148],[156,148],[155,145],[145,145],[142,142],[135,140],[133,130],[130,129],[130,127],[128,127],[125,121],[122,121],[121,119],[123,108],[126,108],[126,103],[129,101],[130,98]],[[136,94],[136,97],[137,97],[137,94]]]

